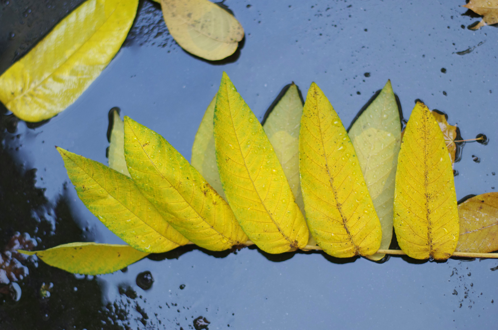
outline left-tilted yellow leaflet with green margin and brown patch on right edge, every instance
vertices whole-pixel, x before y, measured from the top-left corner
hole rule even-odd
[[[227,202],[162,136],[124,117],[124,157],[145,197],[190,241],[210,250],[247,236]]]

